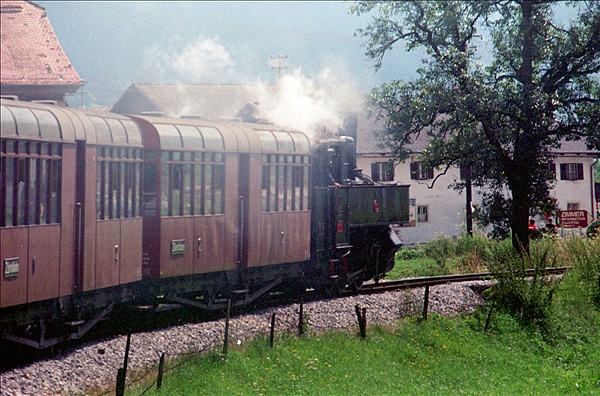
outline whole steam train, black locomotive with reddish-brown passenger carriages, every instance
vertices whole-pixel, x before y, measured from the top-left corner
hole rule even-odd
[[[351,122],[311,142],[266,123],[1,110],[4,339],[45,348],[124,303],[214,310],[393,266],[408,186],[356,169]]]

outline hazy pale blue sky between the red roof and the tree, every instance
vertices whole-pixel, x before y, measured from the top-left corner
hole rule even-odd
[[[102,106],[132,82],[275,83],[279,71],[368,92],[392,78],[415,77],[420,61],[397,49],[376,73],[363,39],[354,36],[367,19],[350,15],[345,2],[38,4],[86,82],[86,103]],[[278,55],[287,69],[274,69]]]

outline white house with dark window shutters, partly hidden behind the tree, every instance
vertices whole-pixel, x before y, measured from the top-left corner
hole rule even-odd
[[[369,127],[371,131],[376,130],[374,124]],[[375,180],[411,186],[411,227],[400,229],[405,244],[423,243],[438,236],[459,236],[465,233],[467,205],[471,206],[471,210],[476,210],[481,205],[481,191],[473,189],[472,200],[468,203],[465,192],[451,187],[461,178],[459,168],[450,168],[444,175],[440,175],[438,170],[421,167],[418,156],[426,146],[425,140],[416,141],[410,147],[414,155],[409,160],[392,164],[389,162],[390,152],[378,147],[372,132],[368,133],[365,129],[359,129],[358,132],[357,166],[363,168],[363,172],[370,169]],[[559,210],[585,210],[590,217],[597,216],[594,165],[598,162],[600,152],[587,150],[583,141],[569,141],[563,142],[554,153],[556,184],[551,195],[556,199]],[[433,183],[436,177],[437,180]],[[536,217],[536,221],[537,224],[544,225],[547,219],[540,215]]]

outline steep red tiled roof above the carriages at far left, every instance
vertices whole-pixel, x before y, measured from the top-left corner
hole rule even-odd
[[[30,1],[0,5],[2,85],[83,85],[43,7]]]

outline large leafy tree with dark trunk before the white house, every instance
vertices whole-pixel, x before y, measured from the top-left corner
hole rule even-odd
[[[577,18],[559,23],[558,6]],[[528,251],[530,214],[552,205],[552,148],[585,139],[600,150],[600,3],[359,1],[351,12],[371,15],[358,33],[376,69],[402,42],[427,56],[414,81],[372,90],[381,144],[405,160],[407,145],[426,136],[426,166],[471,167],[486,187],[482,213],[507,222],[514,247]],[[485,66],[474,49],[479,31],[493,47]],[[493,208],[505,209],[502,219]]]

